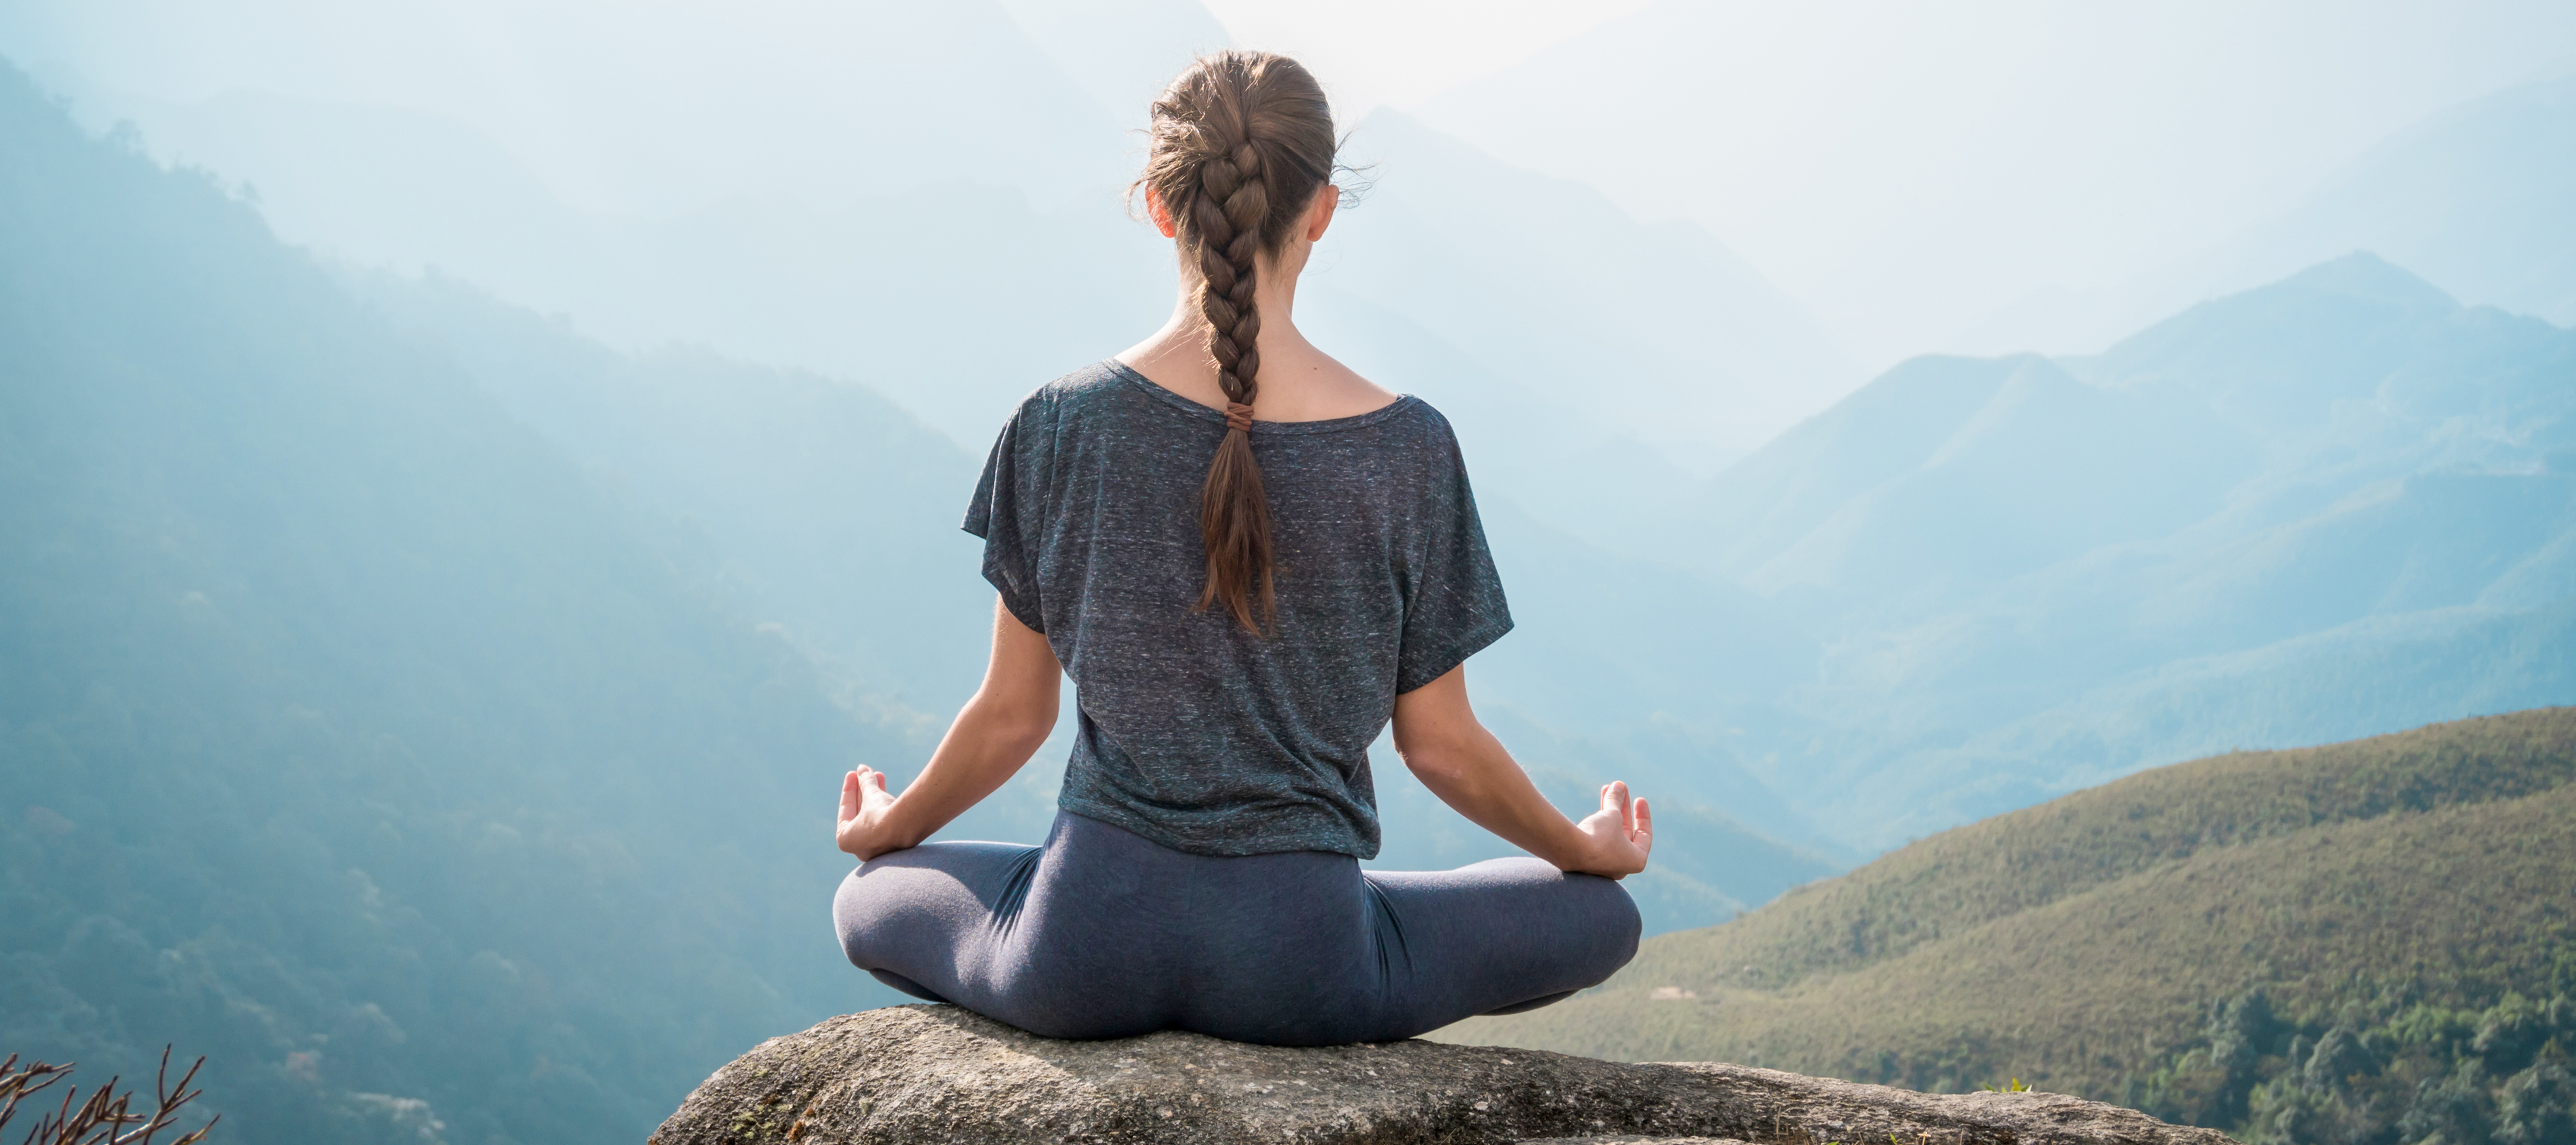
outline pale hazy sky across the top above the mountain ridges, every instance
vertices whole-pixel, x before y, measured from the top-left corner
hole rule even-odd
[[[2192,302],[2391,132],[2576,64],[2576,3],[0,0],[39,75],[433,113],[644,217],[943,178],[1090,201],[1224,39],[1303,57],[1345,124],[1404,108],[1690,219],[1886,366]]]

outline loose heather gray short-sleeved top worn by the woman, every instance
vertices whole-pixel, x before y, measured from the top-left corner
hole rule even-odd
[[[966,531],[984,578],[1074,678],[1059,807],[1193,854],[1378,854],[1368,743],[1419,689],[1512,629],[1458,438],[1417,397],[1252,423],[1278,629],[1208,578],[1198,490],[1226,418],[1118,361],[1020,402]]]

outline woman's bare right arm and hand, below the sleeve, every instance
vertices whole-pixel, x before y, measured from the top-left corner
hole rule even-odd
[[[1396,756],[1440,802],[1561,872],[1625,877],[1646,869],[1654,815],[1628,784],[1602,787],[1602,810],[1569,823],[1530,787],[1466,704],[1466,665],[1396,696]]]

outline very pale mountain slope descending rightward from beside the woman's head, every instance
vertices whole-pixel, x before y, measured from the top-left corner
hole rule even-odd
[[[1347,162],[1368,191],[1334,222],[1316,284],[1687,469],[1718,469],[1860,382],[1801,304],[1698,224],[1643,224],[1592,186],[1386,108],[1350,132]]]

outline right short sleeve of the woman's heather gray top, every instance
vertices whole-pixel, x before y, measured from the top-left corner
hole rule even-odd
[[[1502,575],[1484,544],[1484,521],[1476,518],[1476,493],[1466,482],[1455,438],[1448,441],[1445,464],[1425,485],[1396,694],[1448,676],[1512,632],[1512,609],[1502,598]]]

